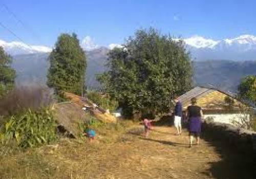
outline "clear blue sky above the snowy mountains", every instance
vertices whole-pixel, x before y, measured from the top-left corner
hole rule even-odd
[[[23,21],[20,24],[3,6]],[[91,36],[96,44],[122,43],[150,26],[184,38],[256,35],[256,1],[38,1],[0,0],[0,22],[29,44],[52,47],[60,33]],[[0,26],[0,39],[17,40]]]

